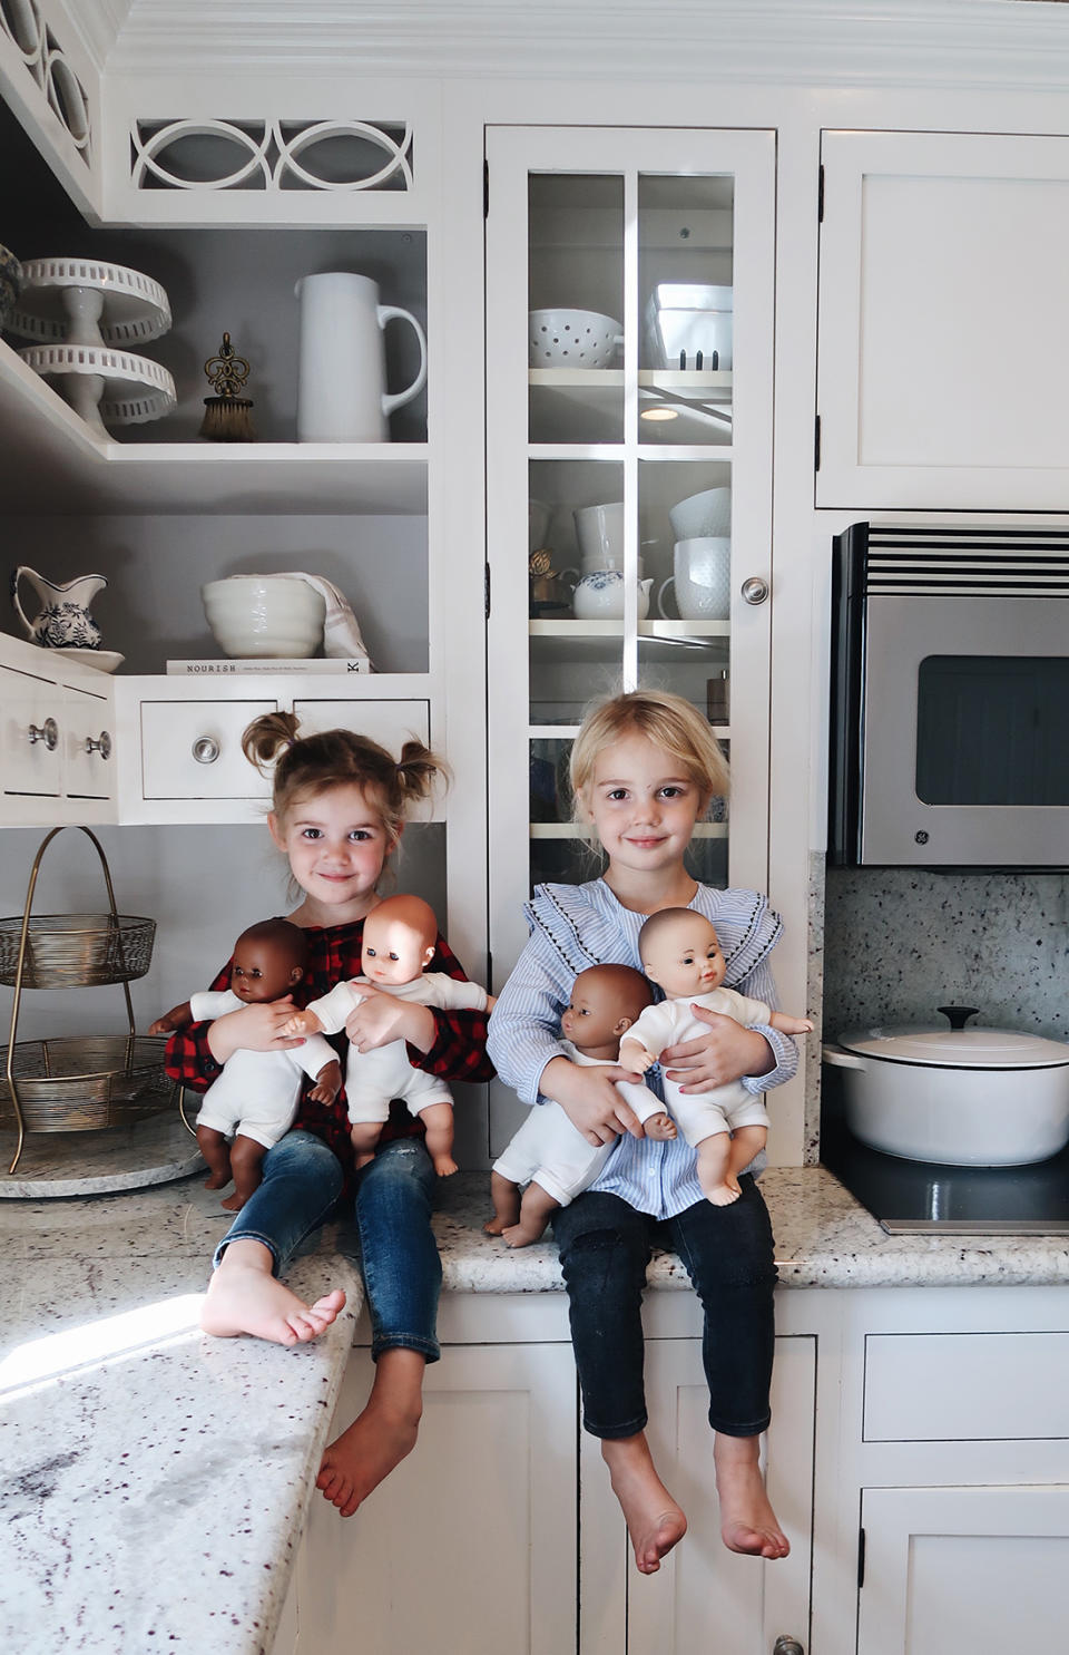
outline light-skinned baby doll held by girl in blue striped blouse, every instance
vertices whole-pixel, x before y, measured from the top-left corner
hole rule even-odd
[[[649,1006],[621,1041],[621,1064],[645,1074],[665,1046],[693,1039],[707,1023],[692,1006],[705,1006],[735,1018],[745,1028],[768,1024],[783,1034],[806,1034],[808,1018],[789,1018],[761,1000],[746,1000],[733,988],[721,988],[726,970],[720,942],[710,920],[693,909],[662,909],[639,932],[642,970],[664,988],[667,1000]],[[677,1081],[664,1079],[665,1099],[692,1149],[698,1152],[698,1183],[717,1206],[740,1197],[738,1173],[748,1167],[768,1139],[768,1114],[760,1096],[741,1081],[712,1092],[683,1092]]]

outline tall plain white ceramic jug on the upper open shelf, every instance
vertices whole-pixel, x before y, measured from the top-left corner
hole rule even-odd
[[[379,305],[371,276],[348,270],[301,276],[295,293],[301,301],[298,442],[389,442],[389,415],[427,382],[427,338],[415,316],[397,305]],[[394,318],[415,329],[419,372],[410,386],[391,394],[382,331]]]

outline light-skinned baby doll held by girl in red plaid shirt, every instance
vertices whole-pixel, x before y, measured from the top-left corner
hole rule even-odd
[[[364,920],[361,947],[362,976],[339,983],[329,995],[313,1000],[304,1011],[295,1011],[283,1024],[283,1034],[338,1034],[346,1018],[377,988],[399,1000],[415,1000],[439,1010],[490,1010],[493,998],[478,983],[460,983],[443,971],[425,971],[434,957],[439,922],[434,909],[420,897],[387,897]],[[427,1129],[427,1154],[439,1177],[457,1172],[453,1160],[453,1096],[434,1074],[414,1069],[405,1043],[391,1041],[372,1051],[357,1053],[349,1046],[346,1061],[346,1097],[356,1163],[362,1167],[374,1155],[389,1115],[391,1099],[400,1097],[410,1114]]]

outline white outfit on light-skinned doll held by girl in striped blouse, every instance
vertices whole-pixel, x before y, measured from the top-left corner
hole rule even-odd
[[[733,988],[713,988],[708,995],[687,995],[682,1000],[662,1000],[647,1006],[627,1029],[624,1039],[637,1039],[654,1056],[665,1046],[705,1034],[708,1023],[695,1018],[692,1006],[705,1006],[733,1018],[743,1028],[766,1024],[771,1006],[763,1000],[748,1000]],[[741,1081],[718,1086],[712,1092],[682,1092],[680,1081],[670,1081],[662,1072],[662,1086],[669,1114],[693,1149],[717,1132],[733,1132],[736,1127],[766,1127],[768,1111],[763,1096],[748,1091]]]

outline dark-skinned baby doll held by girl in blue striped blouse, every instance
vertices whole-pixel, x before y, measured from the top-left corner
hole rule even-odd
[[[629,965],[592,965],[579,971],[561,1016],[564,1054],[573,1063],[616,1064],[621,1036],[652,998],[650,985]],[[675,1137],[675,1125],[649,1087],[627,1081],[617,1086],[647,1137]],[[483,1225],[487,1235],[505,1236],[508,1246],[538,1241],[556,1208],[568,1206],[594,1182],[614,1144],[587,1144],[559,1104],[534,1104],[493,1163],[493,1218]],[[520,1200],[520,1185],[528,1178]]]

